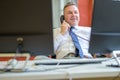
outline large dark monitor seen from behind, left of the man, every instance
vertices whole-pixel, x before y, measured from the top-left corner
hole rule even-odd
[[[0,53],[53,53],[52,0],[0,0]]]

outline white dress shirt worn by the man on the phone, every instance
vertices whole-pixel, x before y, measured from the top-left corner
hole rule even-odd
[[[83,54],[87,57],[92,57],[88,53],[91,27],[75,26],[74,32],[78,37]],[[75,53],[75,46],[69,35],[69,31],[65,35],[62,35],[60,28],[54,29],[54,52],[57,59],[64,58],[69,53]]]

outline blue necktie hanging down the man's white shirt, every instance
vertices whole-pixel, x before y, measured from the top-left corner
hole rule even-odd
[[[80,43],[79,43],[79,41],[78,41],[78,38],[77,38],[77,36],[76,36],[76,34],[73,32],[73,29],[75,29],[74,27],[71,27],[70,28],[70,35],[71,35],[71,37],[72,37],[72,40],[73,40],[73,43],[74,43],[74,45],[75,45],[75,47],[76,47],[76,56],[80,56],[80,58],[83,58],[84,57],[84,55],[83,55],[83,52],[82,52],[82,48],[81,48],[81,46],[80,46]]]

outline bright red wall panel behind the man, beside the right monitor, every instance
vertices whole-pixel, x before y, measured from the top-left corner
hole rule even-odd
[[[90,26],[92,21],[93,0],[78,0],[80,26]]]

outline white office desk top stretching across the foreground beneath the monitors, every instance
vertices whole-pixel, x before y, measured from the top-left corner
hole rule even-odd
[[[23,62],[20,61],[22,64]],[[28,61],[27,67],[33,67],[34,61]],[[6,62],[0,62],[0,66]],[[56,65],[55,65],[56,66]],[[55,67],[53,66],[53,67]],[[35,66],[34,66],[35,67]],[[39,66],[45,68],[46,66]],[[49,67],[49,66],[47,66]],[[61,67],[61,66],[60,66]],[[38,66],[36,67],[36,69]],[[120,68],[106,67],[103,64],[70,65],[67,67],[29,72],[1,72],[0,80],[120,80]]]

